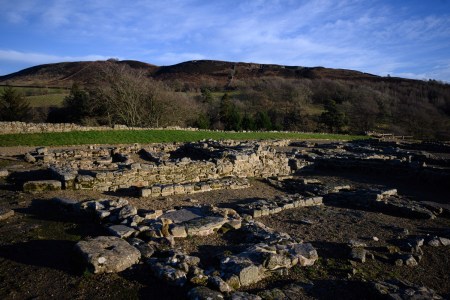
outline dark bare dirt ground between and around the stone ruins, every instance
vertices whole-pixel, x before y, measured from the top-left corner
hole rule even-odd
[[[23,150],[23,149],[22,149]],[[11,155],[11,150],[0,151]],[[7,154],[6,154],[7,153]],[[29,167],[12,156],[0,158],[1,168]],[[399,178],[376,177],[363,173],[305,170],[300,176],[325,183],[352,187],[397,188],[399,194],[416,201],[450,204],[449,187],[412,184]],[[273,198],[286,191],[264,180],[251,179],[251,187],[165,198],[144,199],[130,194],[92,191],[57,191],[26,194],[0,179],[0,207],[13,209],[15,215],[0,221],[0,298],[1,299],[184,299],[186,290],[168,286],[152,276],[145,264],[119,274],[94,275],[87,271],[74,253],[77,241],[106,234],[89,217],[65,213],[53,206],[53,197],[99,199],[124,197],[138,208],[169,209],[193,204],[234,207],[255,198]],[[294,267],[288,274],[273,274],[244,290],[258,293],[289,283],[305,286],[299,299],[370,299],[370,282],[401,279],[434,289],[450,298],[450,247],[422,247],[424,255],[416,267],[396,266],[389,249],[407,237],[441,236],[450,238],[450,219],[433,220],[398,217],[380,212],[325,204],[285,210],[259,218],[264,224],[292,237],[310,242],[319,260],[311,267]],[[365,263],[349,259],[349,240],[363,241],[374,259]],[[234,232],[187,238],[177,247],[198,255],[202,263],[217,265],[224,251],[238,251],[239,237]]]

